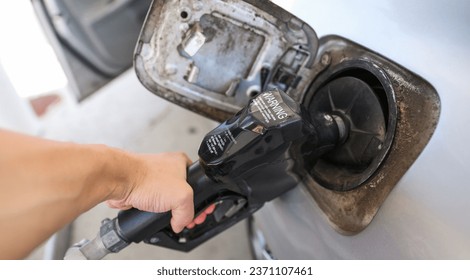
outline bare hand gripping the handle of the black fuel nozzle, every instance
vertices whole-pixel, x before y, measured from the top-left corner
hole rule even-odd
[[[171,210],[171,227],[178,233],[194,218],[193,191],[186,181],[191,160],[183,153],[136,155],[139,165],[132,180],[118,190],[118,199],[107,204],[112,208],[137,208],[147,212]]]

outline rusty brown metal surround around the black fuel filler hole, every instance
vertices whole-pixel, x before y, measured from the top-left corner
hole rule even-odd
[[[328,57],[328,66],[318,72],[313,89],[331,76],[333,69],[360,60],[373,65],[390,80],[396,98],[395,137],[387,157],[368,181],[354,190],[336,192],[324,188],[309,174],[303,174],[305,185],[331,225],[343,234],[356,234],[369,225],[390,191],[428,143],[439,119],[440,99],[436,90],[421,77],[344,38],[321,38],[317,63],[321,64],[325,57]]]

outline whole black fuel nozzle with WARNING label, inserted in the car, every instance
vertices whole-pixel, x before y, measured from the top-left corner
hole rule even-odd
[[[190,251],[300,183],[292,146],[320,156],[345,137],[346,127],[340,117],[311,116],[280,90],[260,93],[204,137],[199,161],[188,169],[195,212],[216,206],[203,224],[176,234],[169,226],[169,212],[130,209],[104,223],[105,230],[97,238],[102,239],[102,247],[111,244],[110,252],[141,241]],[[95,243],[100,242],[89,244]]]

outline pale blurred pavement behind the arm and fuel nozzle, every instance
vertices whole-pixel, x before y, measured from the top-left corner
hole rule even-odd
[[[183,151],[197,160],[203,136],[217,124],[171,104],[146,90],[129,70],[80,103],[63,97],[41,120],[41,135],[77,143],[100,143],[139,153]],[[78,217],[71,227],[71,245],[93,238],[102,219],[117,211],[100,204]],[[59,238],[60,239],[60,238]],[[28,259],[50,258],[53,242]],[[64,245],[64,242],[61,242]],[[60,256],[59,256],[60,258]],[[189,253],[147,244],[132,244],[106,259],[252,259],[247,225],[241,222]]]

